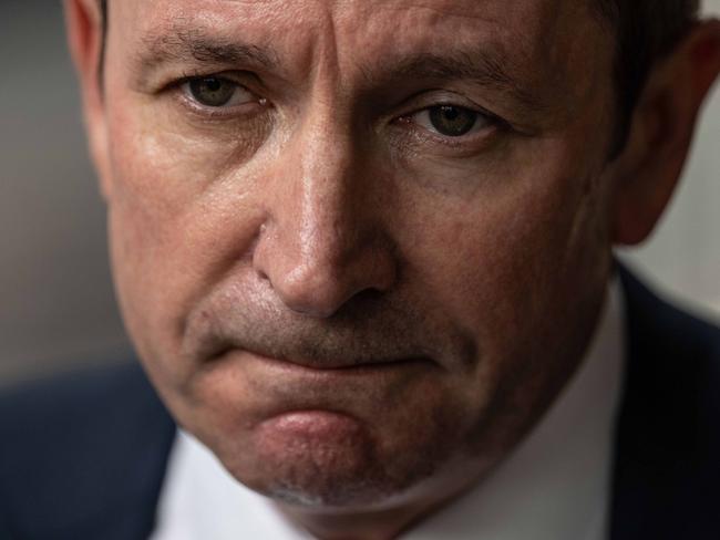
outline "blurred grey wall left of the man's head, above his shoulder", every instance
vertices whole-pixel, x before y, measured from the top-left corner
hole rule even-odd
[[[60,1],[0,1],[0,381],[125,338]]]

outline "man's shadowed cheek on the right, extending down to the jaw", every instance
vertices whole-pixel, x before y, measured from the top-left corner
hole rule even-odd
[[[582,354],[610,260],[595,177],[548,166],[492,197],[435,201],[407,243],[428,305],[474,342],[454,388],[483,448],[506,447]]]

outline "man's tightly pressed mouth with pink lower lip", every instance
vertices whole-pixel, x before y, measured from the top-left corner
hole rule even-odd
[[[268,429],[275,426],[286,435],[307,430],[313,437],[322,432],[323,438],[358,422],[372,424],[387,407],[399,406],[402,396],[430,396],[442,377],[441,367],[426,356],[319,362],[233,347],[200,367],[188,392],[213,408],[222,404],[217,414],[234,425],[254,429],[272,418],[290,418],[289,424],[267,424]]]

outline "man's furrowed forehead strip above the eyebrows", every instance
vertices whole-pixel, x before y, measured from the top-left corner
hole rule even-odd
[[[183,30],[198,30],[272,44],[284,53],[308,48],[338,54],[384,48],[403,54],[476,43],[493,45],[507,60],[536,61],[566,53],[603,29],[593,0],[123,0],[110,2],[114,24],[147,43]],[[588,31],[590,34],[588,34]],[[142,41],[141,41],[142,40]]]

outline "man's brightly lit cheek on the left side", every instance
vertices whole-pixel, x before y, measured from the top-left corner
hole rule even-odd
[[[264,219],[254,198],[259,172],[222,144],[165,129],[142,103],[113,103],[109,215],[121,307],[141,356],[182,377],[184,314],[243,257]]]

